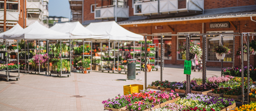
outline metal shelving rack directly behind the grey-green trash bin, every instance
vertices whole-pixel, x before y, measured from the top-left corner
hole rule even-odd
[[[126,42],[126,41],[125,41]],[[121,73],[121,72],[125,72],[125,74],[127,73],[127,70],[126,70],[126,66],[127,66],[127,64],[126,65],[119,65],[119,62],[121,62],[121,61],[119,61],[119,52],[123,55],[123,52],[124,52],[124,55],[127,55],[127,53],[128,52],[133,52],[133,58],[135,59],[135,52],[136,53],[140,53],[140,57],[139,58],[141,58],[141,52],[142,52],[142,47],[140,47],[140,51],[135,51],[135,41],[132,41],[133,42],[133,51],[120,51],[119,50],[119,46],[120,46],[120,41],[118,41],[118,51],[117,51],[117,72],[118,73]],[[123,41],[121,41],[121,44],[123,44]],[[137,45],[140,45],[140,46],[142,46],[142,43],[140,43],[140,44],[137,44]],[[136,55],[137,56],[137,55]],[[125,56],[125,60],[127,60],[126,59],[126,56]],[[136,58],[136,60],[138,60],[138,57]],[[124,70],[118,70],[118,68],[119,68],[119,66],[124,66]],[[138,74],[138,73],[140,73],[140,69],[141,69],[141,60],[140,60],[140,64],[136,64],[136,66],[139,66],[139,70],[136,70],[136,74]]]

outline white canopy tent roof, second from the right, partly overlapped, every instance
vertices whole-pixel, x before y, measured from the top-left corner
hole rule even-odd
[[[56,23],[50,29],[70,34],[71,39],[85,39],[90,38],[93,34],[90,30],[85,28],[79,21]]]

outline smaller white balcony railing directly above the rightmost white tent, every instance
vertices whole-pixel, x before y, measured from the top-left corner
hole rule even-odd
[[[98,8],[98,7],[97,7]],[[125,7],[116,7],[111,5],[110,7],[98,8],[95,9],[94,19],[107,19],[116,17],[115,11],[117,11],[118,18],[129,18],[129,6]]]

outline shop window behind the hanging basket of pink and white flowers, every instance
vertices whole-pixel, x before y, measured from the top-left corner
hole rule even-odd
[[[190,34],[190,33],[200,33],[200,32],[178,32],[178,34]],[[200,36],[192,36],[191,40],[193,41],[194,45],[197,45],[197,43],[200,43]],[[185,36],[178,36],[177,39],[177,50],[183,43],[186,42],[186,37]],[[186,55],[185,54],[178,54],[177,53],[177,60],[186,60]]]

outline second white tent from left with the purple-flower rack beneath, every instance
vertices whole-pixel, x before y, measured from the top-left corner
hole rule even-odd
[[[70,37],[69,37],[69,34],[51,30],[49,28],[44,27],[39,22],[35,22],[29,27],[19,32],[5,34],[4,39],[12,39],[12,40],[24,39],[22,47],[24,47],[23,60],[25,62],[23,63],[25,63],[25,67],[24,67],[25,70],[23,71],[28,73],[37,72],[40,74],[40,72],[47,72],[49,70],[49,68],[48,70],[46,69],[49,66],[48,57],[47,57],[48,56],[47,39],[48,40],[70,39]],[[31,41],[35,43],[31,44]],[[34,51],[35,55],[31,54],[30,51],[32,52]],[[21,54],[23,52],[21,51],[19,53]],[[32,58],[32,59],[29,60],[29,58]],[[40,62],[36,61],[36,60],[41,60],[40,58],[43,58],[43,61],[40,61]],[[36,62],[36,63],[31,63],[31,62]],[[29,67],[32,67],[33,69],[30,69]]]

